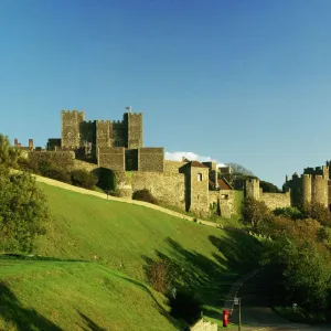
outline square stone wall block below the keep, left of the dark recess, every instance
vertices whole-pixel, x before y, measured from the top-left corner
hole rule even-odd
[[[124,147],[99,147],[98,167],[114,171],[125,171],[125,148]]]

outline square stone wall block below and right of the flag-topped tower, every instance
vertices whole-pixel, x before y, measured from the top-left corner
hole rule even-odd
[[[139,148],[138,170],[151,171],[151,172],[163,172],[164,170],[163,148]]]

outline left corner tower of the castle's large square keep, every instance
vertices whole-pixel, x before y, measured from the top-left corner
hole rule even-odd
[[[81,147],[81,124],[85,121],[84,111],[62,110],[62,148]]]

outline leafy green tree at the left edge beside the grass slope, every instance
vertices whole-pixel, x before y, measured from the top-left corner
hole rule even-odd
[[[0,250],[28,253],[50,218],[46,197],[28,173],[11,174],[19,152],[0,135]]]

